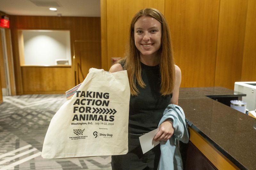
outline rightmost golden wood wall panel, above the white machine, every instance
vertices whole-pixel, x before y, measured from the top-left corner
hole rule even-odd
[[[256,1],[248,1],[241,81],[256,81]]]

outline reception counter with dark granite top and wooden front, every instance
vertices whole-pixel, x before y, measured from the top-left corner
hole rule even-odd
[[[226,99],[241,99],[245,94],[223,87],[199,87],[180,88],[179,96],[190,142],[212,169],[256,169],[256,119],[225,105]],[[187,153],[187,159],[194,157]]]

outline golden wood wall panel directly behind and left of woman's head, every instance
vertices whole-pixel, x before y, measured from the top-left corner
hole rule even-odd
[[[107,0],[108,69],[111,57],[123,57],[132,17],[139,10],[152,7],[164,13],[164,0]]]

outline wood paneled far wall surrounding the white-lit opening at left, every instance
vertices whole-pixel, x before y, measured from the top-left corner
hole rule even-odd
[[[76,41],[86,41],[89,49],[97,48],[100,52],[99,17],[10,16],[10,23],[17,94],[28,94],[30,92],[63,93],[75,86],[77,84],[77,82],[75,82],[75,72],[77,72],[77,67],[75,66],[83,63],[86,65],[86,68],[90,68],[90,63],[87,61],[88,59],[82,58],[81,60],[76,60],[74,50]],[[71,56],[73,57],[72,66],[47,67],[44,69],[42,67],[38,67],[37,69],[35,67],[21,67],[20,55],[22,55],[22,48],[19,44],[22,43],[19,43],[19,41],[22,40],[20,39],[19,30],[23,29],[69,30]],[[99,42],[96,44],[97,47],[95,47],[95,41]],[[80,50],[83,49],[76,49],[77,52]],[[90,62],[94,63],[94,67],[101,67],[100,54],[94,55],[91,60]],[[31,73],[30,71],[35,71],[35,73]],[[58,81],[56,81],[55,74],[53,74],[54,72],[60,73]],[[84,70],[83,72],[87,74],[88,70]],[[49,73],[50,75],[52,74],[52,76],[47,75]],[[40,78],[36,78],[34,74],[40,76]],[[29,76],[32,76],[33,78],[30,78]],[[44,81],[43,78],[47,81]],[[40,83],[43,81],[44,83],[38,85],[38,81]],[[57,88],[60,84],[61,86]]]

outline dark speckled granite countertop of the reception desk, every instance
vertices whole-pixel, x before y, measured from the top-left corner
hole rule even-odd
[[[180,88],[179,105],[183,108],[188,125],[192,129],[238,168],[255,170],[256,129],[253,126],[256,119],[205,97],[208,94],[225,96],[229,95],[230,91],[234,93],[223,87]]]

